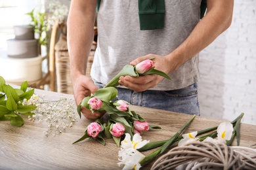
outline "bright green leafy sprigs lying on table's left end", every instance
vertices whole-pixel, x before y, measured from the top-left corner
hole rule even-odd
[[[36,106],[22,105],[24,99],[30,99],[34,90],[28,90],[28,82],[23,82],[20,89],[14,89],[5,84],[5,79],[0,76],[0,121],[9,120],[12,126],[24,124],[23,115],[32,115]],[[27,91],[27,92],[26,92]]]

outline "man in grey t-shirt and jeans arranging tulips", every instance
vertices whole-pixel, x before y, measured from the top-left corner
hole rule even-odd
[[[107,84],[124,65],[155,58],[154,67],[173,80],[159,75],[121,76],[119,99],[133,105],[199,115],[198,53],[230,26],[234,0],[207,0],[202,20],[200,0],[102,0],[90,77],[85,71],[96,5],[96,0],[74,0],[68,16],[68,49],[77,105]],[[92,120],[101,116],[85,108],[82,112]]]

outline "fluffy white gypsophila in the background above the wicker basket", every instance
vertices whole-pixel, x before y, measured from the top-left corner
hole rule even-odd
[[[52,28],[56,22],[62,24],[68,16],[68,7],[60,1],[50,1],[47,6],[47,26]]]

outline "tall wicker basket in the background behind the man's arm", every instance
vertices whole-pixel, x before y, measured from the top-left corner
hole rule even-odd
[[[95,27],[96,36],[96,27]],[[97,43],[93,41],[91,52],[87,62],[86,75],[91,73],[91,65],[95,55]],[[56,65],[56,86],[59,93],[73,93],[72,82],[70,79],[70,56],[66,39],[66,27],[62,28],[60,39],[55,45],[55,65]]]

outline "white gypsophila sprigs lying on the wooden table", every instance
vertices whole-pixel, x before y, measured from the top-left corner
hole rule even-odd
[[[22,105],[35,105],[33,116],[28,116],[30,121],[48,122],[48,130],[44,131],[46,136],[57,135],[72,127],[77,122],[75,116],[74,101],[60,97],[57,101],[45,101],[44,96],[33,95],[29,100],[24,99]]]

